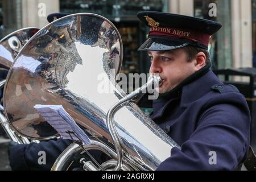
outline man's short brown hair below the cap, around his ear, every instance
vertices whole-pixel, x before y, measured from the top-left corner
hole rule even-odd
[[[187,52],[188,61],[192,61],[193,59],[195,59],[197,53],[203,52],[206,56],[205,64],[210,63],[210,54],[206,49],[195,47],[195,46],[185,46],[181,49],[184,49],[184,51]]]

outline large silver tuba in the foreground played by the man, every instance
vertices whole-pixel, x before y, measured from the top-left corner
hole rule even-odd
[[[134,102],[125,99],[113,79],[121,69],[122,57],[117,28],[108,19],[89,13],[55,20],[19,52],[4,93],[5,113],[14,129],[30,139],[59,137],[34,106],[62,105],[90,135],[90,145],[71,144],[53,170],[68,169],[72,156],[90,150],[100,150],[110,159],[98,164],[95,159],[82,158],[79,162],[85,170],[117,166],[122,170],[154,170],[170,156],[172,147],[179,147]],[[110,114],[110,108],[120,101],[122,107],[118,105]],[[114,123],[119,141],[113,140],[109,122]],[[117,142],[121,146],[118,151]]]

